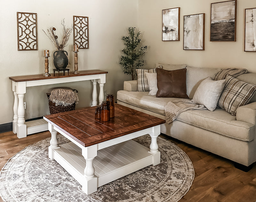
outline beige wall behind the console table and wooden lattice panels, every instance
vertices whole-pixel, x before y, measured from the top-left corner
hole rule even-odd
[[[17,11],[37,13],[38,51],[17,50]],[[54,26],[60,37],[61,20],[65,18],[65,25],[70,27],[73,23],[73,15],[89,17],[89,49],[79,51],[78,70],[108,71],[104,89],[107,93],[114,93],[116,98],[116,92],[123,89],[123,81],[130,79],[129,76],[124,75],[119,64],[121,50],[124,47],[121,37],[127,34],[128,26],[137,26],[137,13],[138,0],[2,1],[0,12],[0,124],[12,122],[13,119],[14,96],[9,77],[43,74],[44,49],[50,50],[49,67],[52,73],[54,68],[52,54],[56,48],[42,29],[46,30]],[[65,50],[68,51],[71,65],[73,65],[73,33]],[[80,102],[77,108],[92,104],[91,81],[28,87],[24,100],[27,104],[25,119],[49,114],[46,92],[56,86],[68,86],[79,91]]]

